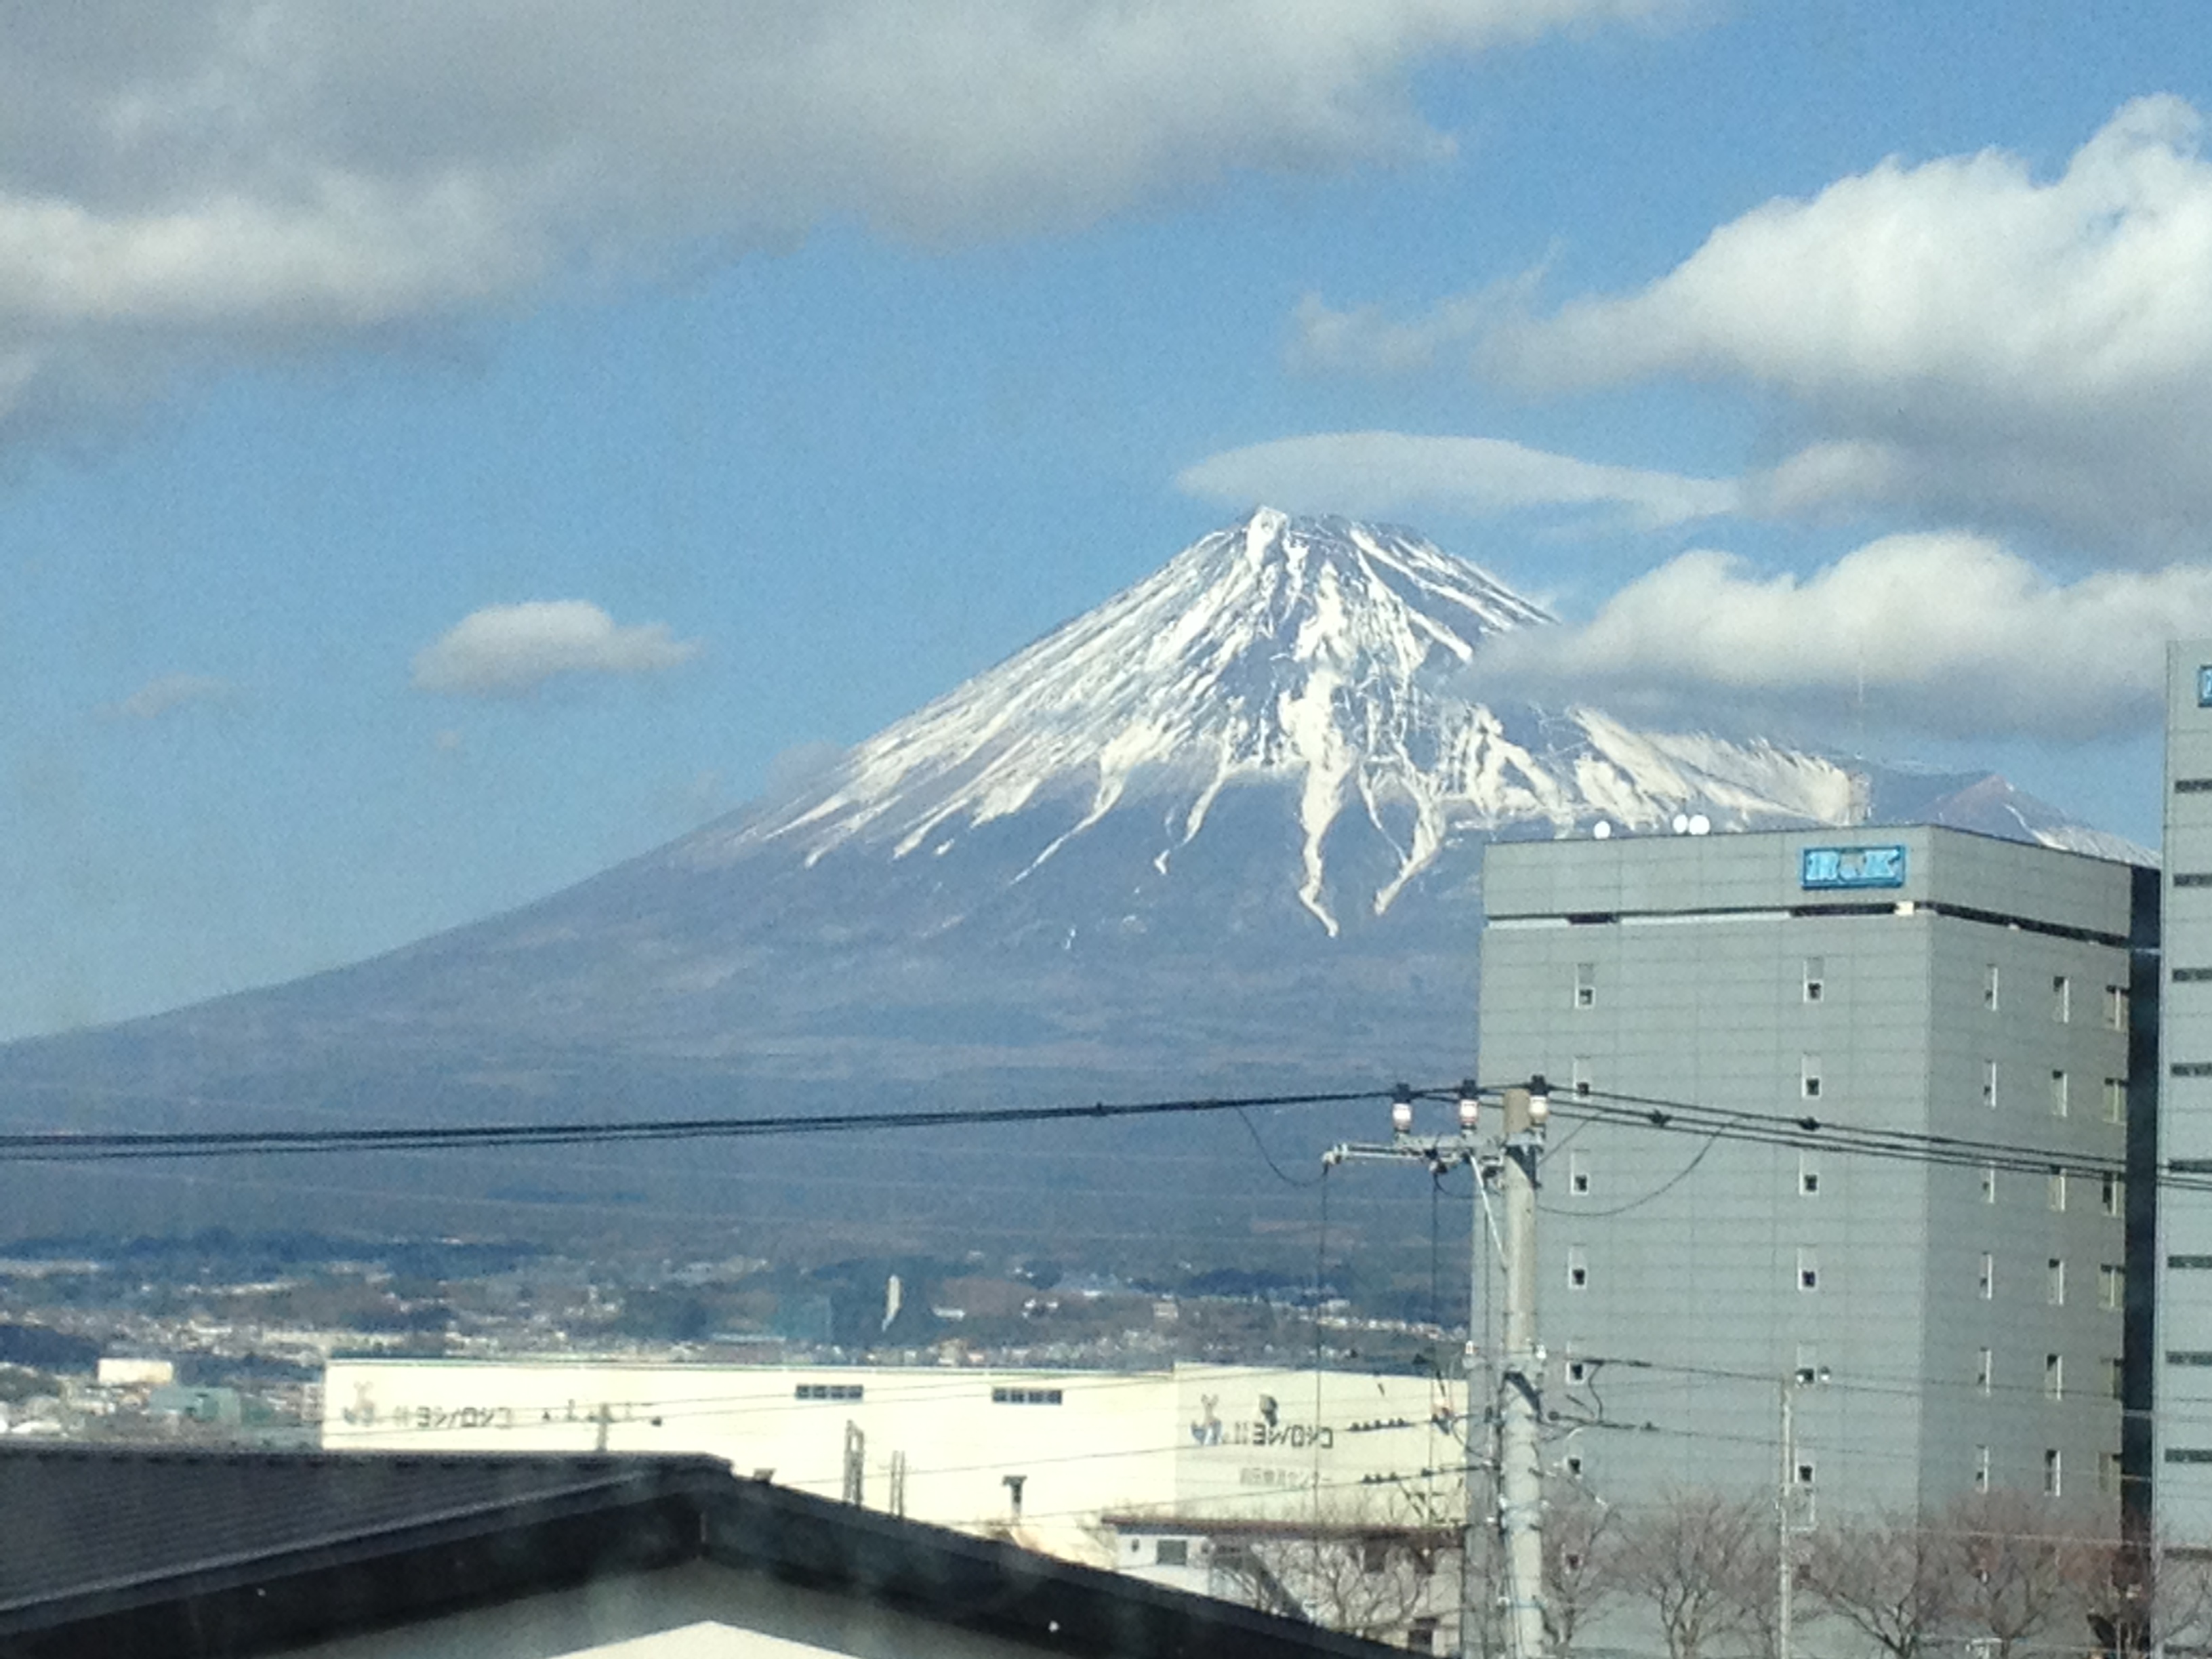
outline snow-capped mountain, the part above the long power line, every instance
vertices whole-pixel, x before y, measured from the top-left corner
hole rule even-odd
[[[1880,818],[2126,852],[2002,779],[1482,697],[1548,617],[1256,511],[792,799],[356,967],[0,1051],[18,1124],[604,1117],[1471,1064],[1480,847]]]

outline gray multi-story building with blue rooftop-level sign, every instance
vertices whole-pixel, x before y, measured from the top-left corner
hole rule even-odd
[[[1568,1471],[1772,1491],[1787,1391],[1823,1515],[2013,1489],[2117,1522],[2137,889],[1936,827],[1491,847],[1482,1075],[1553,1082]]]

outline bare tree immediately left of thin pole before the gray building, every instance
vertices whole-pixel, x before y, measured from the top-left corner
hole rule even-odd
[[[1659,1615],[1668,1659],[1703,1659],[1750,1626],[1759,1595],[1765,1506],[1717,1493],[1672,1493],[1619,1528],[1621,1590]]]

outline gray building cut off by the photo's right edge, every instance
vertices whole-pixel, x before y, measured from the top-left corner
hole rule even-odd
[[[2212,639],[2166,648],[2157,1533],[2212,1546]]]

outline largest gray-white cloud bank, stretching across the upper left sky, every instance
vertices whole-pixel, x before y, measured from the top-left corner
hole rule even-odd
[[[1409,73],[1686,0],[75,0],[0,62],[0,429],[560,274],[1436,153]]]

